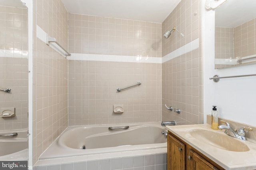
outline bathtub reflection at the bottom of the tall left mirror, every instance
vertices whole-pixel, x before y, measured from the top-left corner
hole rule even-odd
[[[17,132],[18,135],[12,137],[0,137],[0,160],[28,160],[28,131],[0,131],[0,134],[11,134]]]

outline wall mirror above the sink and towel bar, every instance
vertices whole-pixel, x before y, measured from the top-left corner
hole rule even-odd
[[[215,69],[256,63],[255,6],[227,0],[215,10]]]

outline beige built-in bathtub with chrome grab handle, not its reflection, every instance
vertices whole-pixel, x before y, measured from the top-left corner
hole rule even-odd
[[[68,127],[39,160],[167,147],[161,123]],[[124,127],[109,130],[108,127]],[[86,149],[82,149],[85,146]]]

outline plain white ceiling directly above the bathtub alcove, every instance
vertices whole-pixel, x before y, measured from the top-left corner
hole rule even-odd
[[[162,23],[180,0],[62,0],[68,13]]]

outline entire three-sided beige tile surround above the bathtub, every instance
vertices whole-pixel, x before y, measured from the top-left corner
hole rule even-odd
[[[33,160],[65,129],[67,121],[95,125],[161,121],[163,117],[178,124],[202,123],[199,6],[200,0],[182,0],[161,24],[67,14],[60,0],[34,0],[34,28],[38,25],[64,47],[68,42],[74,58],[66,61],[35,38],[34,31]],[[162,40],[162,32],[173,26],[177,28],[174,37]],[[196,39],[198,49],[163,64],[145,62]],[[116,92],[138,81],[142,85]],[[114,114],[114,104],[123,104],[125,112]],[[182,112],[170,116],[163,104]]]

